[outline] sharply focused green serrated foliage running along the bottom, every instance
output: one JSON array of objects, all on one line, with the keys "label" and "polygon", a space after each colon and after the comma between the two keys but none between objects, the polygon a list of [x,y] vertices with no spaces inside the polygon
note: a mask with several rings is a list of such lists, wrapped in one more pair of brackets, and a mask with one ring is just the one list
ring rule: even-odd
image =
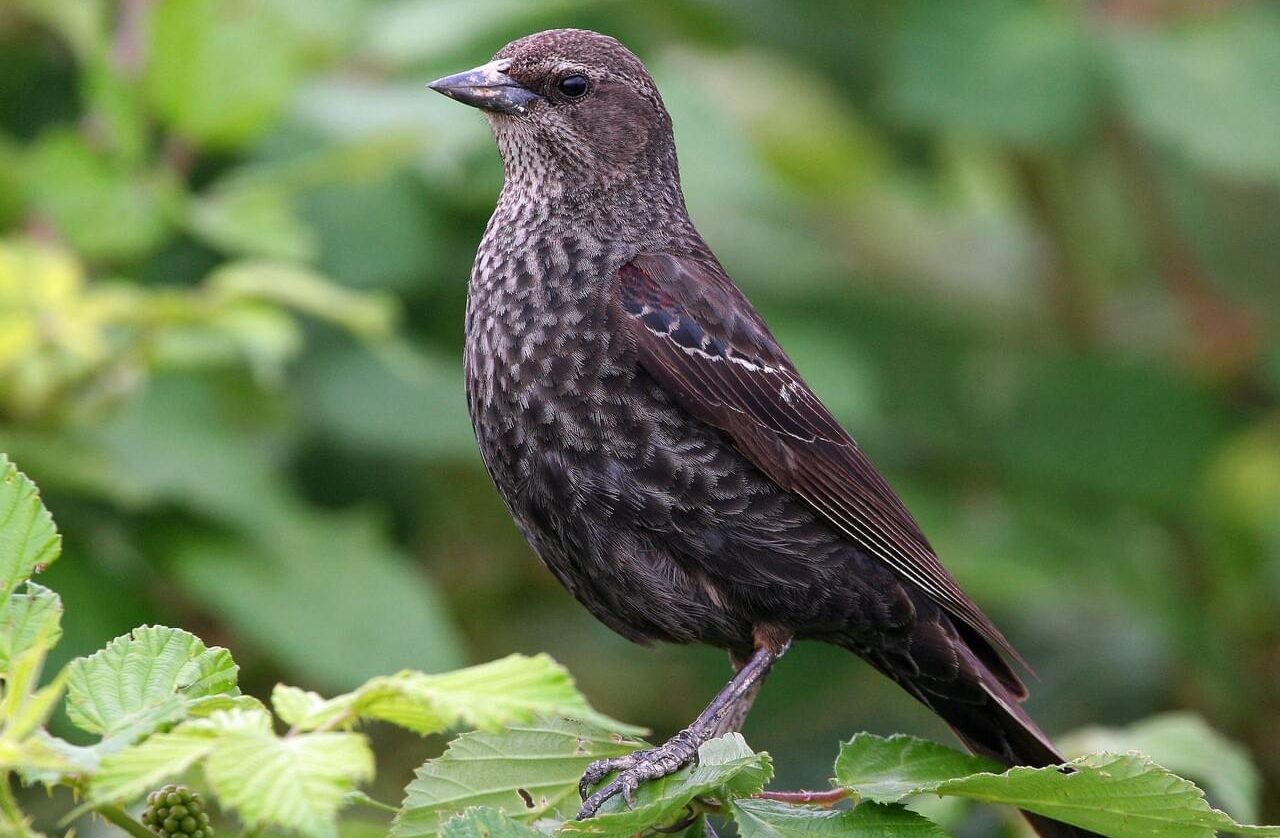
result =
[{"label": "sharply focused green serrated foliage running along the bottom", "polygon": [[[268,706],[241,693],[225,649],[178,628],[143,626],[41,684],[63,604],[31,577],[59,551],[35,485],[0,454],[5,833],[38,834],[18,809],[14,778],[72,787],[84,803],[67,821],[92,810],[134,835],[147,832],[125,807],[188,778],[207,789],[224,820],[234,816],[251,832],[330,835],[344,807],[367,800],[358,787],[372,779],[375,761],[360,728],[383,722],[420,736],[474,728],[417,770],[389,824],[392,838],[622,838],[672,829],[692,835],[710,812],[731,818],[744,838],[945,835],[909,807],[929,795],[1015,806],[1114,838],[1280,837],[1280,826],[1236,823],[1196,784],[1135,751],[1089,754],[1070,770],[1001,771],[934,742],[870,734],[841,746],[831,791],[799,798],[767,792],[772,759],[732,733],[705,743],[695,765],[641,787],[634,809],[612,800],[595,818],[568,820],[586,765],[641,747],[635,737],[644,731],[594,710],[550,658],[512,655],[444,674],[406,670],[333,697],[278,684]],[[68,716],[97,737],[93,745],[74,746],[45,729],[64,693]],[[1185,718],[1164,729],[1211,756],[1229,747]],[[1124,734],[1111,739],[1123,743]],[[1239,756],[1228,756],[1239,775]],[[1245,765],[1245,778],[1251,770]],[[1216,783],[1217,796],[1233,800],[1240,815],[1249,793]],[[828,807],[805,805],[812,801]]]}]

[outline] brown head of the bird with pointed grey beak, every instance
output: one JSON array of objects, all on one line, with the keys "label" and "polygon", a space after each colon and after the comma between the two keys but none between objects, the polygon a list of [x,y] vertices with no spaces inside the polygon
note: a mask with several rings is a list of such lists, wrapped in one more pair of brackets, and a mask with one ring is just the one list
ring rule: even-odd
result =
[{"label": "brown head of the bird with pointed grey beak", "polygon": [[550,29],[430,87],[479,107],[508,183],[573,197],[676,183],[671,119],[649,72],[614,38]]}]

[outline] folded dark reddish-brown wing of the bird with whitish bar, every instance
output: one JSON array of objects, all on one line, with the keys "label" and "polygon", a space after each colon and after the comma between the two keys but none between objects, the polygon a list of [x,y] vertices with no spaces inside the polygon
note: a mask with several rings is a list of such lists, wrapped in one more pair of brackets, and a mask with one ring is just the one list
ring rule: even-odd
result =
[{"label": "folded dark reddish-brown wing of the bird with whitish bar", "polygon": [[649,253],[622,266],[618,301],[640,365],[758,468],[1021,665],[938,562],[884,478],[796,372],[714,261]]}]

